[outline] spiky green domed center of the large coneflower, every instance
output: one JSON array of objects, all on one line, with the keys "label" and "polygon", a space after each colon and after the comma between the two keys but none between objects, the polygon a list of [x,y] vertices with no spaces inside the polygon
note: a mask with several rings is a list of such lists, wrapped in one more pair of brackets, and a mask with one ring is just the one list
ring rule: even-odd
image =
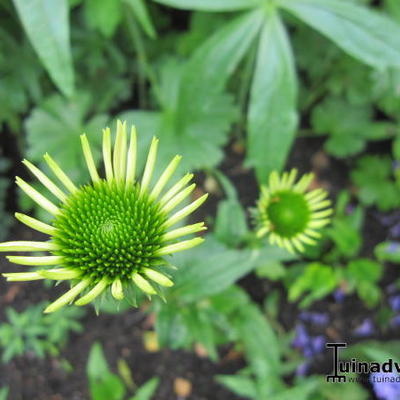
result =
[{"label": "spiky green domed center of the large coneflower", "polygon": [[126,188],[100,181],[79,189],[62,206],[53,237],[64,266],[94,281],[130,279],[161,262],[154,255],[162,245],[166,215],[140,186]]}]

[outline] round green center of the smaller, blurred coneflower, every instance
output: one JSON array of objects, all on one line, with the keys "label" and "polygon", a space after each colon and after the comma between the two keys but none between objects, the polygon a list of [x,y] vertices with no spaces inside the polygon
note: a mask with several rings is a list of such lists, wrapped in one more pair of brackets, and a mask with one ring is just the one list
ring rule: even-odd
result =
[{"label": "round green center of the smaller, blurred coneflower", "polygon": [[291,191],[276,193],[271,198],[266,213],[273,230],[286,238],[304,232],[311,215],[304,195]]}]

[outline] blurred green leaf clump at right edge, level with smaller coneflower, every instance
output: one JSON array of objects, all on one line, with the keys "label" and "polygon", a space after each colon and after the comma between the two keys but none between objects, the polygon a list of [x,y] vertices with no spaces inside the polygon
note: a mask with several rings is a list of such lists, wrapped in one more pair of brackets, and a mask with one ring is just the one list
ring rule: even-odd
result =
[{"label": "blurred green leaf clump at right edge, level with smaller coneflower", "polygon": [[351,178],[363,204],[376,205],[382,211],[400,205],[400,188],[393,181],[392,161],[389,157],[362,157],[352,171]]}]

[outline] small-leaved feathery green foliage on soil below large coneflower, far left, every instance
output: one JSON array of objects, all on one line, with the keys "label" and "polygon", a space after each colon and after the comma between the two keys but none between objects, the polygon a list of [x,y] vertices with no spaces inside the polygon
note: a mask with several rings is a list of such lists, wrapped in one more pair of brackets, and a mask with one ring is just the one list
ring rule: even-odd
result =
[{"label": "small-leaved feathery green foliage on soil below large coneflower, far left", "polygon": [[18,313],[6,308],[8,323],[0,325],[2,361],[33,352],[43,358],[46,354],[56,356],[67,343],[71,332],[82,332],[79,319],[84,311],[68,308],[62,312],[43,314],[43,303],[29,306]]}]

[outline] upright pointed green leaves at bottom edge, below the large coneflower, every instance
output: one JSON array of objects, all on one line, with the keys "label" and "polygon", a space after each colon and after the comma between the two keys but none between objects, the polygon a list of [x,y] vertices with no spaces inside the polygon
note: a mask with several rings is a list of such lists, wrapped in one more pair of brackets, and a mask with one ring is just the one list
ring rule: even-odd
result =
[{"label": "upright pointed green leaves at bottom edge, below the large coneflower", "polygon": [[[119,376],[110,372],[102,346],[96,342],[90,349],[86,366],[89,389],[92,400],[123,400],[127,389]],[[158,378],[152,378],[137,388],[129,400],[151,400],[159,384]]]}]

